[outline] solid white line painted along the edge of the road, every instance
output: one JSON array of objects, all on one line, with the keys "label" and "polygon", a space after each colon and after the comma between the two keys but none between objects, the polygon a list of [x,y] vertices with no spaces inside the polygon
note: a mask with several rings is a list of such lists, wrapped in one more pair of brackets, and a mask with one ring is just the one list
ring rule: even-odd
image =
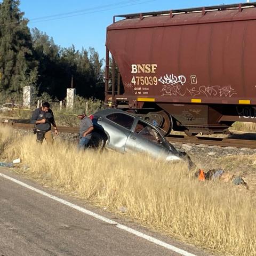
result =
[{"label": "solid white line painted along the edge of the road", "polygon": [[14,178],[12,178],[12,177],[9,177],[9,176],[7,176],[7,175],[5,175],[5,174],[3,174],[3,173],[0,173],[0,177],[3,177],[3,178],[8,179],[8,180],[11,180],[11,181],[13,181],[13,182],[19,184],[19,185],[22,186],[22,187],[31,189],[31,190],[35,191],[36,193],[38,193],[38,194],[47,196],[47,197],[49,197],[49,198],[51,198],[51,199],[53,199],[53,200],[55,200],[55,201],[57,201],[57,202],[59,202],[59,203],[65,204],[65,205],[67,205],[67,206],[69,206],[69,207],[71,207],[71,208],[73,208],[73,209],[76,209],[77,211],[83,212],[83,213],[85,213],[85,214],[87,214],[87,215],[90,215],[90,216],[96,218],[96,219],[99,219],[99,220],[101,220],[101,221],[107,222],[107,223],[109,223],[109,224],[114,224],[114,225],[116,225],[116,227],[119,228],[119,229],[123,229],[123,230],[125,230],[125,231],[127,231],[127,232],[129,232],[129,233],[131,233],[131,234],[133,234],[133,235],[135,235],[135,236],[139,236],[139,237],[141,237],[141,238],[144,238],[144,239],[146,239],[147,241],[150,241],[150,242],[152,242],[152,243],[154,243],[154,244],[163,246],[163,247],[165,247],[166,249],[169,249],[169,250],[171,250],[171,251],[177,252],[177,253],[179,253],[179,254],[181,254],[181,255],[183,255],[183,256],[196,256],[196,255],[193,254],[193,253],[189,253],[189,252],[187,252],[187,251],[184,251],[184,250],[182,250],[182,249],[179,249],[178,247],[175,247],[175,246],[173,246],[173,245],[171,245],[171,244],[167,244],[167,243],[165,243],[165,242],[163,242],[163,241],[161,241],[161,240],[159,240],[159,239],[156,239],[156,238],[154,238],[154,237],[152,237],[152,236],[148,236],[148,235],[146,235],[146,234],[144,234],[144,233],[142,233],[142,232],[140,232],[140,231],[137,231],[137,230],[135,230],[135,229],[129,228],[129,227],[124,226],[124,225],[122,225],[122,224],[120,224],[120,223],[118,223],[118,222],[116,222],[116,221],[113,221],[113,220],[110,220],[110,219],[108,219],[108,218],[105,218],[105,217],[103,217],[103,216],[101,216],[101,215],[99,215],[99,214],[97,214],[97,213],[94,213],[94,212],[91,212],[91,211],[89,211],[89,210],[86,210],[86,209],[83,208],[83,207],[80,207],[80,206],[78,206],[78,205],[69,203],[68,201],[63,200],[63,199],[61,199],[61,198],[59,198],[59,197],[57,197],[57,196],[53,196],[53,195],[48,194],[48,193],[46,193],[46,192],[44,192],[44,191],[42,191],[42,190],[40,190],[40,189],[34,188],[34,187],[32,187],[32,186],[29,186],[29,185],[27,185],[26,183],[21,182],[21,181],[19,181],[19,180],[17,180],[17,179],[14,179]]}]

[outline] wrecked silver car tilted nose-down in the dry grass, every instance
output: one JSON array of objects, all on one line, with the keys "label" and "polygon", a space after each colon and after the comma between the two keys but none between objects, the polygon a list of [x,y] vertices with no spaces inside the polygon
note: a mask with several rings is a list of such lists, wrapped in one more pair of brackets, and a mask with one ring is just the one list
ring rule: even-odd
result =
[{"label": "wrecked silver car tilted nose-down in the dry grass", "polygon": [[121,153],[147,153],[166,161],[192,164],[189,156],[175,149],[160,129],[138,116],[108,108],[98,111],[91,118],[94,126],[91,147],[106,147]]}]

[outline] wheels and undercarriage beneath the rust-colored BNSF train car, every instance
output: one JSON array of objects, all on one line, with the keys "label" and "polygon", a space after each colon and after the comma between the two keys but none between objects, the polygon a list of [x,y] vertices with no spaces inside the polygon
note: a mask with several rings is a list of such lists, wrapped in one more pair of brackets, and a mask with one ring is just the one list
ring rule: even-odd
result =
[{"label": "wheels and undercarriage beneath the rust-colored BNSF train car", "polygon": [[164,130],[165,135],[172,130],[189,136],[229,134],[228,129],[234,122],[253,122],[256,119],[254,106],[138,102],[137,107],[129,108],[128,102],[116,100],[115,107],[146,119]]}]

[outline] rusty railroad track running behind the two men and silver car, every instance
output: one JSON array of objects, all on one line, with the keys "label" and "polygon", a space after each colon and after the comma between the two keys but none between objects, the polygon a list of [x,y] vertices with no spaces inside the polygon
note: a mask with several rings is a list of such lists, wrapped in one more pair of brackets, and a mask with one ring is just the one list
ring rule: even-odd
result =
[{"label": "rusty railroad track running behind the two men and silver car", "polygon": [[[15,123],[15,122],[3,123],[3,124],[12,126],[14,129],[32,130],[34,127],[33,124]],[[58,130],[61,133],[78,133],[79,129],[78,129],[78,127],[58,126]],[[168,137],[166,137],[166,139],[169,142],[256,149],[256,135],[255,135],[255,140],[244,140],[244,139],[233,139],[233,138],[214,138],[214,137],[188,137],[186,135],[169,135]]]}]

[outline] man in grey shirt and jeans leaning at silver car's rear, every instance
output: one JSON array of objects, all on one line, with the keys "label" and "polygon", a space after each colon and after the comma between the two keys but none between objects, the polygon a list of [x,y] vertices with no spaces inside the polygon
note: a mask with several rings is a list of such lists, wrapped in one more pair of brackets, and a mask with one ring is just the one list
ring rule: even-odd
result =
[{"label": "man in grey shirt and jeans leaning at silver car's rear", "polygon": [[93,123],[91,118],[85,115],[83,109],[79,109],[77,117],[81,120],[79,127],[78,149],[85,149],[92,138]]}]

